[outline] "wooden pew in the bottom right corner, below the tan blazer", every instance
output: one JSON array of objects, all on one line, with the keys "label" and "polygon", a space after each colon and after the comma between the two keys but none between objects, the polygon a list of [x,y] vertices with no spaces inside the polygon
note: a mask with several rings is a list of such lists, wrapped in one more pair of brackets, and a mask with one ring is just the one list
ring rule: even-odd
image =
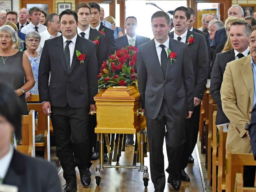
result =
[{"label": "wooden pew in the bottom right corner, below the tan blazer", "polygon": [[[256,166],[256,161],[253,155],[245,153],[230,153],[227,152],[226,157],[226,191],[234,191],[236,174],[243,174],[243,166],[254,165]],[[241,179],[243,181],[243,179]]]}]

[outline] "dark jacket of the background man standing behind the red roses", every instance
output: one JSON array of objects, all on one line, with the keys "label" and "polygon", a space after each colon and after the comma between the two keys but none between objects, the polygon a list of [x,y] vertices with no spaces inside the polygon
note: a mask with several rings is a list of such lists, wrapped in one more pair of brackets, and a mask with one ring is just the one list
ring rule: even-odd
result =
[{"label": "dark jacket of the background man standing behind the red roses", "polygon": [[[135,47],[137,48],[138,46],[140,46],[141,44],[150,41],[149,38],[147,37],[143,37],[140,35],[136,35],[136,39],[135,39]],[[127,36],[124,35],[122,37],[119,37],[117,39],[115,39],[115,42],[117,43],[117,50],[120,50],[123,47],[126,47],[129,45]]]}]

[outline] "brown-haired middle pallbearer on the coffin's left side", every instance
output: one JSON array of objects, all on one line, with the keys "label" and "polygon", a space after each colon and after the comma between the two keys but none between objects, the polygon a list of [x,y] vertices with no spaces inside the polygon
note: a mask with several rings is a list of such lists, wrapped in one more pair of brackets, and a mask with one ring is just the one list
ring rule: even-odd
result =
[{"label": "brown-haired middle pallbearer on the coffin's left side", "polygon": [[[107,55],[107,42],[105,35],[90,27],[91,7],[87,3],[80,3],[76,6],[76,14],[78,15],[77,33],[80,37],[94,41],[96,44],[96,56],[98,60],[98,72]],[[98,37],[98,41],[95,38]]]}]

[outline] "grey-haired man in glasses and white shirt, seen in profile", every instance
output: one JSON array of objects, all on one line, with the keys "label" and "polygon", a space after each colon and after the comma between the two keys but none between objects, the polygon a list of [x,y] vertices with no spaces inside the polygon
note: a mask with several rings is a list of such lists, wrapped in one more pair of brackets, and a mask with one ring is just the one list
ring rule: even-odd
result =
[{"label": "grey-haired man in glasses and white shirt, seen in profile", "polygon": [[51,13],[47,15],[45,19],[47,30],[40,33],[41,41],[37,48],[37,51],[41,52],[45,41],[61,35],[59,27],[59,15],[57,13]]}]

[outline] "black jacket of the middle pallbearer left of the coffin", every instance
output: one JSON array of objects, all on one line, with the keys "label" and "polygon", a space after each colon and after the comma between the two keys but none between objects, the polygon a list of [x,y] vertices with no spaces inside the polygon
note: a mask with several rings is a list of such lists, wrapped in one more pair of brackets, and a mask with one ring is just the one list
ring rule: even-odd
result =
[{"label": "black jacket of the middle pallbearer left of the coffin", "polygon": [[96,45],[96,56],[97,56],[97,60],[98,60],[98,72],[100,72],[100,67],[101,67],[103,61],[108,59],[107,41],[106,41],[106,37],[104,34],[102,34],[99,31],[90,27],[89,40],[93,41],[98,36],[100,36],[100,38],[98,40],[99,44]]}]

